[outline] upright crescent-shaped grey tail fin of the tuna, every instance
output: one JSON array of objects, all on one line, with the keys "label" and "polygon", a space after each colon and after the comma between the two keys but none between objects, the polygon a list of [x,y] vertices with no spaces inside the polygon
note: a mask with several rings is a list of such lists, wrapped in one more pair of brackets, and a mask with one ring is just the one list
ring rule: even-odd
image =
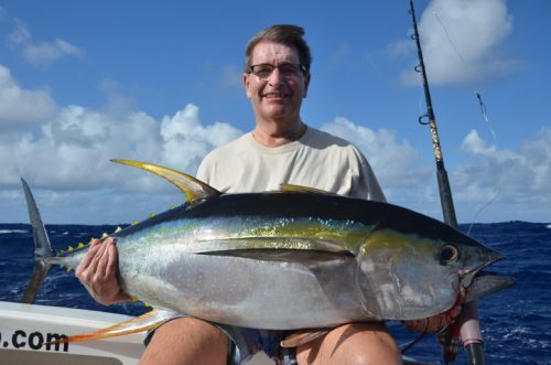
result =
[{"label": "upright crescent-shaped grey tail fin of the tuna", "polygon": [[31,281],[26,287],[25,293],[23,294],[23,303],[32,303],[34,297],[39,291],[39,288],[47,275],[47,271],[52,267],[47,258],[55,256],[55,250],[50,244],[50,238],[47,237],[46,228],[42,223],[40,217],[39,208],[34,202],[33,194],[29,189],[26,182],[21,179],[23,184],[23,192],[25,193],[26,210],[29,211],[29,218],[31,221],[31,226],[33,230],[34,238],[34,268],[31,277]]}]

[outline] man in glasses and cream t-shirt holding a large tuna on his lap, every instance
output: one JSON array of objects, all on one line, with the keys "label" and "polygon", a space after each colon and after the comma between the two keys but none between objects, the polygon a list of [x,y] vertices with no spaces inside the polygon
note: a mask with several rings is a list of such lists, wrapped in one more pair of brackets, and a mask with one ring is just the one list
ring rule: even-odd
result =
[{"label": "man in glasses and cream t-shirt holding a large tuna on his lap", "polygon": [[[255,129],[210,152],[197,178],[229,193],[277,190],[291,183],[383,201],[375,174],[354,146],[301,119],[311,78],[311,54],[303,34],[299,26],[274,25],[248,43],[242,83],[255,112]],[[118,283],[112,239],[93,243],[76,275],[104,304],[129,299]],[[239,364],[259,350],[276,357],[284,335],[176,318],[149,337],[141,364]],[[400,364],[401,356],[383,323],[350,323],[300,345],[296,361],[301,365],[392,365]]]}]

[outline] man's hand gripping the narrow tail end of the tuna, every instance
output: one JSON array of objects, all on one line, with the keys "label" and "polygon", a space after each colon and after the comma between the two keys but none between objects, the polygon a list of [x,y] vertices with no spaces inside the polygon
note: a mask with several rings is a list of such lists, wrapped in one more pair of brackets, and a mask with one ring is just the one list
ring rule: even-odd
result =
[{"label": "man's hand gripping the narrow tail end of the tuna", "polygon": [[90,296],[105,305],[130,300],[130,296],[120,288],[115,244],[112,237],[105,240],[95,239],[75,270],[76,277]]}]

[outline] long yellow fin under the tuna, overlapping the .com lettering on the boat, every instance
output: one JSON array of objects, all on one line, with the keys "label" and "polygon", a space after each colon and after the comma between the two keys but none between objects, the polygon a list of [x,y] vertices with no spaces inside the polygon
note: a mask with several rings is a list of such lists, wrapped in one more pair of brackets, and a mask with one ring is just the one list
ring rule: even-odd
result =
[{"label": "long yellow fin under the tuna, overlapping the .com lettering on the boat", "polygon": [[153,309],[145,314],[133,318],[131,320],[117,323],[115,325],[108,326],[106,329],[98,330],[91,333],[77,334],[66,339],[61,339],[58,341],[51,342],[50,344],[58,344],[65,342],[80,342],[80,341],[97,341],[115,336],[122,336],[126,334],[142,332],[152,330],[166,320],[173,318],[174,311],[164,309]]}]

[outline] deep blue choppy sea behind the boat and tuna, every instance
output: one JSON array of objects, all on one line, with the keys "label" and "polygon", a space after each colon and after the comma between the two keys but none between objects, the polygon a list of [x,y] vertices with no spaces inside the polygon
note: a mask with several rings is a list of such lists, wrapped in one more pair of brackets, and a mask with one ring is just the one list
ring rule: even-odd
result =
[{"label": "deep blue choppy sea behind the boat and tuna", "polygon": [[[56,249],[66,249],[90,237],[112,233],[116,226],[48,225]],[[487,364],[551,364],[551,225],[507,222],[462,225],[463,232],[507,256],[494,271],[514,276],[517,283],[478,301]],[[31,276],[33,238],[26,224],[0,224],[0,300],[20,301]],[[95,303],[74,278],[61,268],[47,276],[36,303],[140,314],[140,303],[102,307]],[[399,343],[417,337],[399,323],[390,329]],[[440,347],[428,335],[408,355],[419,361],[440,361]],[[467,364],[461,350],[455,364]]]}]

